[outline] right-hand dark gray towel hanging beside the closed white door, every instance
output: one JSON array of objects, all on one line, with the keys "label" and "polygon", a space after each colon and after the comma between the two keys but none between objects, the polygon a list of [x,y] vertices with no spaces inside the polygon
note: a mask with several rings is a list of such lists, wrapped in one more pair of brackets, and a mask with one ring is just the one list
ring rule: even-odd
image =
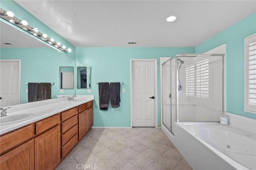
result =
[{"label": "right-hand dark gray towel hanging beside the closed white door", "polygon": [[110,101],[112,107],[120,106],[120,82],[110,83]]}]

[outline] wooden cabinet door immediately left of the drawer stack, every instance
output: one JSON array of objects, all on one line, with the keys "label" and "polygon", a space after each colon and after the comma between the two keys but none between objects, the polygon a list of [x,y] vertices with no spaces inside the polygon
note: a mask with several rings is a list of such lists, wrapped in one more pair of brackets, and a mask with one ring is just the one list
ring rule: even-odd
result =
[{"label": "wooden cabinet door immediately left of the drawer stack", "polygon": [[60,162],[60,125],[35,138],[35,169],[51,170]]}]

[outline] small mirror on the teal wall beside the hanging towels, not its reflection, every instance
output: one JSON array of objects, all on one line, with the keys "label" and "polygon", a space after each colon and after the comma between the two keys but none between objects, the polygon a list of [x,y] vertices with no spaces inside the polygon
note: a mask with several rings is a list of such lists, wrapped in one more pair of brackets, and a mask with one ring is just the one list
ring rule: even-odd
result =
[{"label": "small mirror on the teal wall beside the hanging towels, not its reflection", "polygon": [[78,66],[76,67],[77,81],[76,88],[91,88],[91,67]]}]

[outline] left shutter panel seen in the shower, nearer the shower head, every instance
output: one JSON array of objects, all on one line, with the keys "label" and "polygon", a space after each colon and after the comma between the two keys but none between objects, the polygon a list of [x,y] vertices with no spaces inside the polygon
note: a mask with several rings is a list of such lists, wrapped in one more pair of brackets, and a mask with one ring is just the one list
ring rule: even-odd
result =
[{"label": "left shutter panel seen in the shower, nearer the shower head", "polygon": [[186,66],[186,96],[195,96],[195,64]]}]

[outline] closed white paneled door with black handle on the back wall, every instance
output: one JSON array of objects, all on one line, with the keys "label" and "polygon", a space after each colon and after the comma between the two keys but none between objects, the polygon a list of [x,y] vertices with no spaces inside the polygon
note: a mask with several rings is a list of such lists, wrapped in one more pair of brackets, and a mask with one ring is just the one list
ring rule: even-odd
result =
[{"label": "closed white paneled door with black handle on the back wall", "polygon": [[132,127],[155,127],[156,125],[156,59],[131,61],[131,116]]}]

